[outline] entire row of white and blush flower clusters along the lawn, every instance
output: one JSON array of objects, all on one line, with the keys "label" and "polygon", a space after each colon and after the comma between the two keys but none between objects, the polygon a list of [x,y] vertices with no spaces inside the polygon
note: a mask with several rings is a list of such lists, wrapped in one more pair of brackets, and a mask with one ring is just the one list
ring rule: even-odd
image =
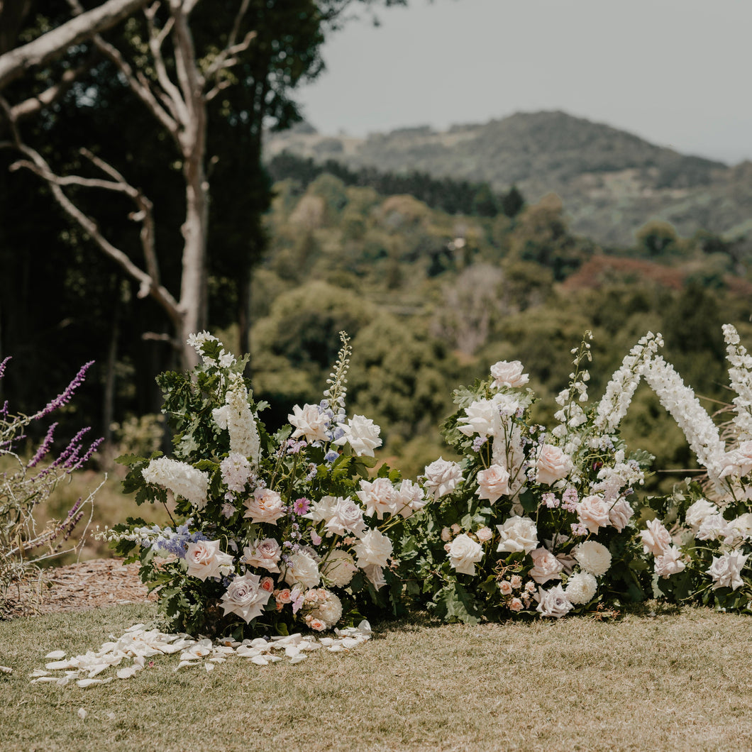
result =
[{"label": "entire row of white and blush flower clusters along the lawn", "polygon": [[[380,429],[347,416],[350,347],[323,399],[267,432],[245,362],[206,332],[193,373],[159,377],[174,456],[125,456],[139,503],[174,501],[174,524],[107,532],[140,562],[171,632],[235,641],[354,628],[427,608],[449,622],[616,614],[663,594],[750,611],[752,357],[732,327],[729,446],[648,333],[590,402],[590,335],[572,350],[550,426],[520,362],[455,392],[444,429],[459,461],[415,480],[379,464]],[[638,508],[652,457],[619,434],[641,379],[687,432],[705,484]],[[638,520],[642,520],[638,525]],[[647,520],[647,522],[646,522]]]}]

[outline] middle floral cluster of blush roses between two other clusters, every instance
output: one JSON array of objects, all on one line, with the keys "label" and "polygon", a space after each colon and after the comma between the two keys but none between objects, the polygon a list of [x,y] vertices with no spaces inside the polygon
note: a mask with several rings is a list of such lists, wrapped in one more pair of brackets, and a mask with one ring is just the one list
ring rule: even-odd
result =
[{"label": "middle floral cluster of blush roses between two other clusters", "polygon": [[551,428],[531,419],[535,395],[518,361],[456,390],[444,436],[462,460],[426,467],[420,481],[436,503],[402,550],[408,589],[437,617],[559,618],[644,599],[632,499],[652,457],[629,453],[618,428],[662,341],[642,338],[588,407],[589,340],[572,350]]}]

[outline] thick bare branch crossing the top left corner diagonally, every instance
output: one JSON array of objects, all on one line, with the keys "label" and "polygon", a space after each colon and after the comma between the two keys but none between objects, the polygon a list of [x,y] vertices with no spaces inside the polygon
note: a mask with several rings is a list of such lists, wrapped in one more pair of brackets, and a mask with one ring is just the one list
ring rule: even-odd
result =
[{"label": "thick bare branch crossing the top left corner diagonally", "polygon": [[33,65],[43,65],[62,55],[68,47],[111,29],[147,0],[108,0],[98,8],[72,18],[29,44],[0,55],[0,89],[22,76]]}]

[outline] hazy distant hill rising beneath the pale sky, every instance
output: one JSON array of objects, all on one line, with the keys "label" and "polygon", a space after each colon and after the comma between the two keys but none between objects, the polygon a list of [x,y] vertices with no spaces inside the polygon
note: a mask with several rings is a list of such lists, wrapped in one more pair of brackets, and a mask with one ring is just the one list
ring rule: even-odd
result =
[{"label": "hazy distant hill rising beneath the pale sky", "polygon": [[350,168],[487,182],[499,192],[517,186],[532,202],[557,193],[572,230],[606,246],[632,244],[651,219],[684,236],[699,229],[752,236],[752,162],[729,167],[687,156],[559,111],[368,138],[321,135],[304,125],[268,136],[267,158],[285,150]]}]

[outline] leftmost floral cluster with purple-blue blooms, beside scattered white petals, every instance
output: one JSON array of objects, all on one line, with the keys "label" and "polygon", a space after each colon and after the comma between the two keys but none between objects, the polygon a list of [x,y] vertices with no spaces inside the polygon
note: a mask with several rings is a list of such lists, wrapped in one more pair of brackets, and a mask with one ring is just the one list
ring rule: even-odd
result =
[{"label": "leftmost floral cluster with purple-blue blooms, beside scattered white petals", "polygon": [[[174,456],[126,456],[136,501],[174,499],[171,526],[128,520],[108,532],[138,560],[171,630],[232,638],[325,632],[359,623],[399,582],[393,540],[425,503],[421,488],[381,465],[380,429],[347,417],[350,344],[318,405],[295,405],[269,435],[244,360],[202,332],[193,374],[162,374]],[[389,590],[390,588],[387,588]]]}]

